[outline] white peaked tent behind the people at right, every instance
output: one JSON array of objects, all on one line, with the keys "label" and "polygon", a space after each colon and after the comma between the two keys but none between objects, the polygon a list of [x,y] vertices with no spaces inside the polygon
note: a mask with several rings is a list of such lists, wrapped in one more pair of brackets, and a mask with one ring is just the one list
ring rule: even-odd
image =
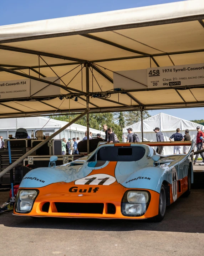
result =
[{"label": "white peaked tent behind the people at right", "polygon": [[[155,127],[159,127],[160,131],[164,135],[164,141],[169,141],[169,137],[176,132],[177,128],[180,128],[180,133],[185,135],[185,129],[189,130],[190,138],[196,139],[197,130],[196,127],[200,126],[201,130],[204,129],[203,125],[196,124],[191,121],[187,121],[184,119],[180,119],[175,116],[170,116],[164,113],[159,113],[157,115],[151,116],[145,120],[143,120],[143,135],[144,141],[157,141],[156,134],[153,131]],[[141,121],[137,122],[136,124],[129,125],[128,127],[123,128],[123,135],[127,137],[127,129],[131,127],[133,132],[139,136],[140,141],[142,141],[142,127]],[[126,142],[126,139],[123,139]],[[156,147],[155,147],[156,149]],[[173,147],[172,146],[165,146],[163,149],[164,155],[173,154]]]}]

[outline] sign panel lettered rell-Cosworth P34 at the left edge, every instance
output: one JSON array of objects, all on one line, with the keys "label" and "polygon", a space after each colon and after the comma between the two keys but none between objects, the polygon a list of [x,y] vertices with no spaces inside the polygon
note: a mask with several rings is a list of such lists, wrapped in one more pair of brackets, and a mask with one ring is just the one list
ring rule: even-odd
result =
[{"label": "sign panel lettered rell-Cosworth P34 at the left edge", "polygon": [[22,98],[30,96],[30,79],[0,82],[0,98]]}]

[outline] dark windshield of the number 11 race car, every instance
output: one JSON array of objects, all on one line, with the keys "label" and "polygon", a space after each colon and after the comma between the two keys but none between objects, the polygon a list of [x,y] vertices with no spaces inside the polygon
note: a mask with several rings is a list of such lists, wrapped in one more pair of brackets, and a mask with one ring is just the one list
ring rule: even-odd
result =
[{"label": "dark windshield of the number 11 race car", "polygon": [[141,146],[105,146],[98,150],[88,161],[138,161],[143,158],[145,148]]}]

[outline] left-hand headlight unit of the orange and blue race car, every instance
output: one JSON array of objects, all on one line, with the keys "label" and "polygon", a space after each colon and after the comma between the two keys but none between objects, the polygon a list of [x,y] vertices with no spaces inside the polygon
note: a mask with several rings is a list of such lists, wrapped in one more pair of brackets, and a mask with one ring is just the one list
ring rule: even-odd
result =
[{"label": "left-hand headlight unit of the orange and blue race car", "polygon": [[32,210],[33,203],[39,193],[39,190],[19,189],[16,196],[15,211],[17,213],[29,213]]}]

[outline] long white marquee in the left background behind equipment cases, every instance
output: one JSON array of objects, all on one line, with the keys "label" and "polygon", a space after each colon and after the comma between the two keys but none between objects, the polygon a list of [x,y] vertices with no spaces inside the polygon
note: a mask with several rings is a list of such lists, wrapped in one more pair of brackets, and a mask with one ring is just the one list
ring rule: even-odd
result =
[{"label": "long white marquee in the left background behind equipment cases", "polygon": [[[27,117],[27,118],[10,118],[10,119],[1,119],[0,121],[0,136],[3,136],[4,139],[7,139],[9,134],[15,136],[15,132],[18,128],[25,128],[31,136],[31,131],[43,130],[45,135],[51,135],[61,127],[65,126],[67,122],[59,121],[55,119],[50,119],[46,117]],[[85,131],[87,130],[86,126],[73,124],[70,127],[67,127],[64,131],[58,134],[54,139],[62,139],[65,137],[67,140],[71,137],[79,137],[80,140],[85,136]],[[93,133],[93,137],[96,137],[97,133],[100,133],[102,136],[105,136],[105,132],[99,131],[96,129],[90,128],[90,131]]]}]

